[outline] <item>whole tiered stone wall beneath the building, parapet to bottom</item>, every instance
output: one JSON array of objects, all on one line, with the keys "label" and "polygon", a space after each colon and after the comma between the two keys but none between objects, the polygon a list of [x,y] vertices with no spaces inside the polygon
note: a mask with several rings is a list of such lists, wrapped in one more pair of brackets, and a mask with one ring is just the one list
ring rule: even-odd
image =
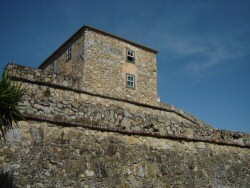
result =
[{"label": "whole tiered stone wall beneath the building, parapet to bottom", "polygon": [[9,65],[28,121],[1,143],[20,187],[249,187],[250,135],[171,105],[86,91],[77,80]]}]

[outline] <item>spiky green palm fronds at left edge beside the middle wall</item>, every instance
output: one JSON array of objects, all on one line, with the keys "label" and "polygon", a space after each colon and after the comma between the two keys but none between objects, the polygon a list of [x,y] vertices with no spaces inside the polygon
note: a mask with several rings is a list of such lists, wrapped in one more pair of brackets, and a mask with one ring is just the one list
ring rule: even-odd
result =
[{"label": "spiky green palm fronds at left edge beside the middle wall", "polygon": [[0,81],[0,139],[5,138],[6,132],[13,128],[13,124],[24,119],[19,112],[19,101],[23,94],[21,84],[14,83],[4,72]]}]

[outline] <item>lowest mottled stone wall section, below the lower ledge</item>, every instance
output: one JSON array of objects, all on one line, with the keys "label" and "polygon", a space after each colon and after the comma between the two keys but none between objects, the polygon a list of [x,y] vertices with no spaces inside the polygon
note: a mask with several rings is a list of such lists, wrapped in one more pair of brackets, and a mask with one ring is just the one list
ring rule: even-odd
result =
[{"label": "lowest mottled stone wall section, below the lower ledge", "polygon": [[249,149],[27,121],[1,143],[19,187],[249,187]]}]

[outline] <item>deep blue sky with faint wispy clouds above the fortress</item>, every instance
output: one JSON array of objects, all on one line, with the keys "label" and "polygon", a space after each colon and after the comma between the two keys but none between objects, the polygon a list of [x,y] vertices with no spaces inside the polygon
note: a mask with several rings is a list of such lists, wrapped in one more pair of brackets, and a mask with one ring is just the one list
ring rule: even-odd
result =
[{"label": "deep blue sky with faint wispy clouds above the fortress", "polygon": [[250,133],[249,0],[0,0],[0,74],[38,67],[84,24],[158,50],[161,101]]}]

